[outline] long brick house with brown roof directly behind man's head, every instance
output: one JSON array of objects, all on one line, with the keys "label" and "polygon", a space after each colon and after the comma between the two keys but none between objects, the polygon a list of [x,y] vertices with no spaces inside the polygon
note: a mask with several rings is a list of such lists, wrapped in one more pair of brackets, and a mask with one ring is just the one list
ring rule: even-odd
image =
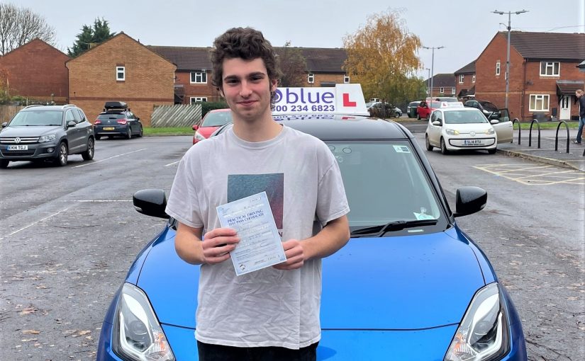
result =
[{"label": "long brick house with brown roof directly behind man's head", "polygon": [[[167,47],[149,45],[148,48],[177,65],[174,84],[174,101],[189,104],[198,101],[220,101],[216,88],[211,85],[211,47]],[[274,47],[277,54],[283,47]],[[342,69],[347,59],[345,49],[323,47],[295,47],[306,62],[303,86],[335,86],[349,83],[350,77]]]}]

